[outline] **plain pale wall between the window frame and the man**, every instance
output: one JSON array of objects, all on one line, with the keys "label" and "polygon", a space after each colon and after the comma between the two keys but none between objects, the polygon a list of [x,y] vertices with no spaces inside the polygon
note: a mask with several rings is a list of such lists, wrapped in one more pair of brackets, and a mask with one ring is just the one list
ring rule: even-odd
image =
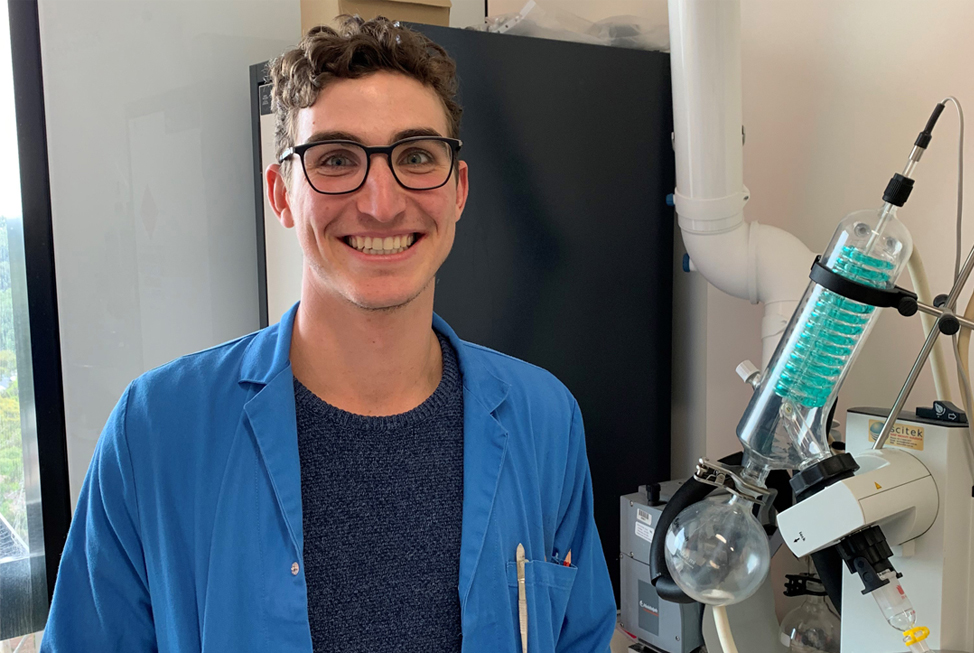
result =
[{"label": "plain pale wall between the window frame and the man", "polygon": [[298,0],[40,0],[72,502],[125,386],[258,327],[248,67]]}]

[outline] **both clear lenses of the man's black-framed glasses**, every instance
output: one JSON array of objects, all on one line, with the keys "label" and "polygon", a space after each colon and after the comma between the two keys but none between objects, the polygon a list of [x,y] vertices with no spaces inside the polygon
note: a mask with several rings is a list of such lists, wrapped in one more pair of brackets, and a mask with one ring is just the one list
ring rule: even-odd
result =
[{"label": "both clear lenses of the man's black-framed glasses", "polygon": [[[453,170],[453,150],[437,140],[398,144],[390,155],[392,171],[410,190],[427,190],[446,183]],[[322,193],[347,193],[362,185],[369,162],[365,150],[352,143],[322,143],[304,153],[308,181]]]}]

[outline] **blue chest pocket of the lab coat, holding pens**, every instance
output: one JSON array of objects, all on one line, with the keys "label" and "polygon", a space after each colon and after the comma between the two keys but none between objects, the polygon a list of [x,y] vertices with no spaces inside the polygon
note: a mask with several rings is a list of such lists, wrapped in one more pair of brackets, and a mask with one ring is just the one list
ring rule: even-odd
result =
[{"label": "blue chest pocket of the lab coat, holding pens", "polygon": [[[529,653],[554,653],[577,572],[575,567],[565,567],[553,562],[524,563],[524,589],[528,599]],[[507,563],[507,584],[513,591],[514,631],[519,633],[516,562]],[[518,644],[517,650],[520,651],[520,648]]]}]

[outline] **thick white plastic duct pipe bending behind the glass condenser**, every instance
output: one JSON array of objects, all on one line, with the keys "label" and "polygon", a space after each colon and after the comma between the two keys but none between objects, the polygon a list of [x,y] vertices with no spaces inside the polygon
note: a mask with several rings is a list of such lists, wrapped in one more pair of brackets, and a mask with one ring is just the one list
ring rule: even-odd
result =
[{"label": "thick white plastic duct pipe bending behind the glass condenser", "polygon": [[694,269],[764,304],[767,366],[815,255],[790,233],[744,221],[739,0],[669,0],[676,212]]}]

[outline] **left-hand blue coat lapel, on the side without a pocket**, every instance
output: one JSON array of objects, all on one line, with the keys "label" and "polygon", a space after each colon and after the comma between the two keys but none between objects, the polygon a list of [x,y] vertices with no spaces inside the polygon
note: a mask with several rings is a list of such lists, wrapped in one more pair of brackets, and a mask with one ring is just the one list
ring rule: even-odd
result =
[{"label": "left-hand blue coat lapel, on the side without a pocket", "polygon": [[244,405],[245,419],[270,477],[295,553],[304,555],[301,509],[301,459],[291,374],[291,332],[295,304],[281,321],[257,334],[241,365],[241,384],[256,394]]}]

